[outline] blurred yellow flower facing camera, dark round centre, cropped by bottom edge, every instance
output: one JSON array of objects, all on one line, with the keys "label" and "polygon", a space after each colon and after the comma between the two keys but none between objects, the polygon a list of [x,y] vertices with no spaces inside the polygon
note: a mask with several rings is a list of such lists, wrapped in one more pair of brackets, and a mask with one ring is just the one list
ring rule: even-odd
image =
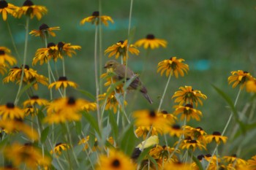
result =
[{"label": "blurred yellow flower facing camera, dark round centre, cropped by bottom edge", "polygon": [[127,155],[118,150],[110,150],[109,155],[99,155],[96,170],[135,170],[135,165]]}]

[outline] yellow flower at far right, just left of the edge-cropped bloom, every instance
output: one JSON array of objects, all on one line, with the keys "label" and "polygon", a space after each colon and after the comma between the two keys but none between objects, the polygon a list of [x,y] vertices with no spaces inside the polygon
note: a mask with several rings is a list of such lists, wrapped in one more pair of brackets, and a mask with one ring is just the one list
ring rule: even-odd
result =
[{"label": "yellow flower at far right, just left of the edge-cropped bloom", "polygon": [[243,70],[231,72],[231,76],[227,78],[228,84],[233,83],[232,88],[236,88],[240,85],[240,88],[244,88],[245,82],[251,79],[251,74],[249,72],[244,72]]}]

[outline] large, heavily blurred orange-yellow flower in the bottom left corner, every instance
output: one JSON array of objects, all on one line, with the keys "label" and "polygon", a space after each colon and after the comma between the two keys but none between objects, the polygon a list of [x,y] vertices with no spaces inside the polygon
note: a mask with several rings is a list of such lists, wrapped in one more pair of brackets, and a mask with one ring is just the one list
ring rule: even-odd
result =
[{"label": "large, heavily blurred orange-yellow flower in the bottom left corner", "polygon": [[31,144],[14,143],[4,147],[4,157],[16,167],[25,164],[29,169],[37,169],[38,166],[49,166],[50,158]]}]

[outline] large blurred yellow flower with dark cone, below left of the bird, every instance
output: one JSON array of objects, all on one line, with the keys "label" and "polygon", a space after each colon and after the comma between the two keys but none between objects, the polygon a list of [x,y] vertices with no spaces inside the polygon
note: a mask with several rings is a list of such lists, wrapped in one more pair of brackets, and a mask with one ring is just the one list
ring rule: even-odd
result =
[{"label": "large blurred yellow flower with dark cone, below left of the bird", "polygon": [[81,118],[80,112],[87,101],[73,97],[58,98],[47,104],[47,116],[45,123],[65,123],[67,121],[78,121]]}]

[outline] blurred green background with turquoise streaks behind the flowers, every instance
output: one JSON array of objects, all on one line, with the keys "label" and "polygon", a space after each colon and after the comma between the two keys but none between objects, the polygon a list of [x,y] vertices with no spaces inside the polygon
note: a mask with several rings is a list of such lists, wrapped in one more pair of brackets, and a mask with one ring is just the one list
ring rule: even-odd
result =
[{"label": "blurred green background with turquoise streaks behind the flowers", "polygon": [[[22,1],[8,1],[20,6]],[[30,20],[30,30],[38,29],[42,23],[48,26],[60,26],[56,37],[50,37],[48,42],[70,42],[80,45],[73,58],[67,58],[67,77],[78,83],[79,88],[95,94],[94,82],[94,26],[86,23],[80,26],[80,20],[99,10],[99,1],[34,1],[34,4],[44,5],[48,8],[48,15],[42,20]],[[127,39],[129,23],[130,1],[109,0],[102,1],[102,15],[110,15],[115,21],[109,27],[102,27],[102,49],[105,50],[114,43]],[[180,86],[192,85],[196,90],[208,96],[203,101],[201,122],[189,122],[189,125],[201,126],[209,134],[212,131],[222,131],[230,112],[225,101],[212,88],[211,84],[221,88],[235,101],[238,88],[233,89],[227,85],[227,77],[233,70],[242,69],[255,75],[256,52],[256,20],[255,1],[238,0],[158,0],[134,1],[132,9],[132,42],[144,38],[147,34],[154,34],[159,39],[167,40],[167,48],[150,50],[146,58],[146,50],[140,48],[140,55],[130,55],[129,67],[142,74],[141,80],[153,98],[154,104],[150,106],[138,94],[133,100],[134,93],[129,93],[127,110],[157,109],[159,96],[162,95],[167,77],[157,74],[157,63],[172,56],[184,58],[189,64],[189,74],[176,79],[173,77],[167,89],[162,109],[173,112],[171,96]],[[12,36],[18,47],[18,53],[23,56],[24,24],[25,18],[16,19],[8,16]],[[9,47],[12,55],[15,50],[10,39],[7,22],[0,20],[0,45]],[[31,60],[37,48],[42,47],[41,39],[29,36],[29,59]],[[103,63],[108,61],[107,55],[102,55]],[[21,60],[20,60],[21,61]],[[21,62],[18,65],[20,66]],[[57,63],[61,71],[61,63]],[[45,74],[46,65],[34,66],[40,74]],[[144,72],[142,73],[142,71]],[[2,76],[1,76],[2,79]],[[46,87],[41,87],[36,93],[48,98]],[[1,104],[15,99],[18,86],[13,84],[1,85]],[[69,95],[83,96],[76,90],[69,90]],[[56,93],[57,97],[57,93]],[[244,107],[249,94],[243,91],[238,101],[238,109]],[[133,102],[135,101],[135,102]]]}]

